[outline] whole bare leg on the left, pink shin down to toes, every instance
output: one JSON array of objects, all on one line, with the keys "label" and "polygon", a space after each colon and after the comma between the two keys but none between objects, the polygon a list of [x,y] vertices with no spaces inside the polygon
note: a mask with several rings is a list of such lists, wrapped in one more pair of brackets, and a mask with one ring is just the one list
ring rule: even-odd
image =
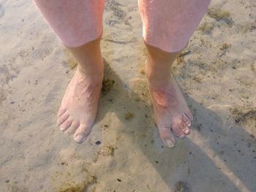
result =
[{"label": "whole bare leg on the left, pink shin down to toes", "polygon": [[78,60],[78,69],[67,87],[58,113],[61,131],[84,142],[97,115],[102,87],[100,53],[105,0],[34,0],[48,24]]}]

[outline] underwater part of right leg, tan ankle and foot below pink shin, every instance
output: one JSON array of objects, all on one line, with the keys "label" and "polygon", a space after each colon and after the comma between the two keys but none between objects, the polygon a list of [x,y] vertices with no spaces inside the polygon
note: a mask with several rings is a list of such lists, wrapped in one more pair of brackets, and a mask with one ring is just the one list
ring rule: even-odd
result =
[{"label": "underwater part of right leg, tan ankle and foot below pink shin", "polygon": [[154,107],[154,120],[162,141],[167,147],[173,147],[176,143],[173,133],[184,139],[189,134],[193,119],[171,74],[171,66],[177,54],[167,53],[150,45],[147,48],[146,75]]}]

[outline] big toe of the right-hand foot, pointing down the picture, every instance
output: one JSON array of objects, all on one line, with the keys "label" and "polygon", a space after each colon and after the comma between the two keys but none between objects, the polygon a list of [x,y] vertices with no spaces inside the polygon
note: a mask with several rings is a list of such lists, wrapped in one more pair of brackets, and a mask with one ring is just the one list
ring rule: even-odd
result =
[{"label": "big toe of the right-hand foot, pointing down the picture", "polygon": [[170,126],[159,126],[159,135],[166,147],[174,147],[176,140],[170,131]]}]

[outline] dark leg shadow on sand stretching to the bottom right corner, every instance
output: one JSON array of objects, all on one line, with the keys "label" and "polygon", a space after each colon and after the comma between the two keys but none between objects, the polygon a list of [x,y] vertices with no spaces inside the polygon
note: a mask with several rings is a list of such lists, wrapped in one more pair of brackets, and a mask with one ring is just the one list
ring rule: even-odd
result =
[{"label": "dark leg shadow on sand stretching to the bottom right corner", "polygon": [[[129,88],[124,88],[105,61],[105,79],[115,83],[111,94],[101,98],[97,122],[114,112],[125,127],[116,127],[116,134],[129,138],[134,145],[131,149],[142,151],[170,190],[255,191],[255,138],[235,123],[228,112],[209,110],[185,94],[195,117],[193,133],[169,149],[162,146],[151,120],[145,78],[135,79]],[[133,89],[140,90],[135,93]],[[109,102],[112,107],[102,107]],[[124,110],[134,117],[127,120]],[[117,142],[121,146],[122,141]]]}]

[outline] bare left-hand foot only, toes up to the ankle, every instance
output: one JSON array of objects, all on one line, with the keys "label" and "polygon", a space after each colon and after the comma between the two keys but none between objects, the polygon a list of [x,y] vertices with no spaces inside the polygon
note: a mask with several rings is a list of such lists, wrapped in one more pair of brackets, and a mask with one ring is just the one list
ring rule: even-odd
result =
[{"label": "bare left-hand foot only, toes up to the ankle", "polygon": [[102,75],[86,75],[77,69],[67,87],[58,112],[61,131],[74,134],[76,142],[84,142],[97,115]]}]

